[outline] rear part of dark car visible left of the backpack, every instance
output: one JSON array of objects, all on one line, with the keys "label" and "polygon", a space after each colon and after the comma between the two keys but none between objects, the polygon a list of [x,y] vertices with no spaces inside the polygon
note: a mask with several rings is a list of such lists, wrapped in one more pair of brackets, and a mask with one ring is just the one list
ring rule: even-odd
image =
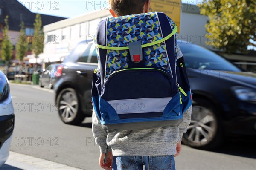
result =
[{"label": "rear part of dark car visible left of the backpack", "polygon": [[58,113],[66,124],[79,124],[92,115],[91,84],[97,68],[92,41],[82,41],[61,63],[60,78],[54,86]]}]

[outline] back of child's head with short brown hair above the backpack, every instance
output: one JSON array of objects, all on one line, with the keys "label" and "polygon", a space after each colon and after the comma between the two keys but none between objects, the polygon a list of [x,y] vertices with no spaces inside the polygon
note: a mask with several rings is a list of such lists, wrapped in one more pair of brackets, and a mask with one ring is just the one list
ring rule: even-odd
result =
[{"label": "back of child's head with short brown hair above the backpack", "polygon": [[148,0],[108,0],[110,8],[117,16],[143,13],[143,7]]}]

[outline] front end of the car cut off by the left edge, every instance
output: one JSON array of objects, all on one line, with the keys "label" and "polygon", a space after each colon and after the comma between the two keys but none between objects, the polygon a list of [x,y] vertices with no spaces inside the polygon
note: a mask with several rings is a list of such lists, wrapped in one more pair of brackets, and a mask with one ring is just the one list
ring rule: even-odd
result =
[{"label": "front end of the car cut off by the left edge", "polygon": [[9,157],[9,141],[14,129],[14,109],[10,94],[9,81],[0,71],[0,166]]}]

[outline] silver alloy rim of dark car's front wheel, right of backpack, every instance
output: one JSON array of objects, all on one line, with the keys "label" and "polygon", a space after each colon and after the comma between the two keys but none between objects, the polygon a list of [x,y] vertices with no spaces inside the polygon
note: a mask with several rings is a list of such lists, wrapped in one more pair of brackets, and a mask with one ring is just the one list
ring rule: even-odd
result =
[{"label": "silver alloy rim of dark car's front wheel, right of backpack", "polygon": [[211,110],[203,106],[193,106],[191,123],[187,128],[187,139],[198,145],[209,143],[216,133],[217,120]]}]

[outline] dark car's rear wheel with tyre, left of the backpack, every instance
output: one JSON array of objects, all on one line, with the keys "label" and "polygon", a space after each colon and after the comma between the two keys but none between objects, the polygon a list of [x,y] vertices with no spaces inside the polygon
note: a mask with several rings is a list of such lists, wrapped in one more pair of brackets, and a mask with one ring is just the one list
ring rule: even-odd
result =
[{"label": "dark car's rear wheel with tyre, left of the backpack", "polygon": [[57,98],[58,113],[65,124],[79,124],[85,115],[81,112],[79,98],[72,88],[63,89]]}]

